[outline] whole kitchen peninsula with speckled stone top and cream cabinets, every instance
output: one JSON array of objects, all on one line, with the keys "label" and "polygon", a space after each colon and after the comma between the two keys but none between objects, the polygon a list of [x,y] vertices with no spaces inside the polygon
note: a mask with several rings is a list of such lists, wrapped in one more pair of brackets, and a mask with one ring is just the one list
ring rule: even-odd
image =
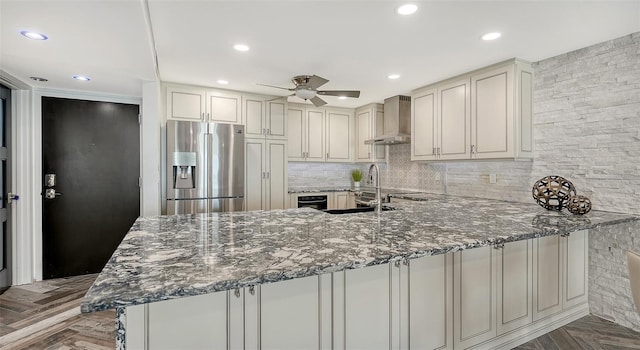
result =
[{"label": "whole kitchen peninsula with speckled stone top and cream cabinets", "polygon": [[588,230],[637,220],[415,199],[139,218],[82,311],[117,309],[121,349],[509,347],[586,315]]}]

